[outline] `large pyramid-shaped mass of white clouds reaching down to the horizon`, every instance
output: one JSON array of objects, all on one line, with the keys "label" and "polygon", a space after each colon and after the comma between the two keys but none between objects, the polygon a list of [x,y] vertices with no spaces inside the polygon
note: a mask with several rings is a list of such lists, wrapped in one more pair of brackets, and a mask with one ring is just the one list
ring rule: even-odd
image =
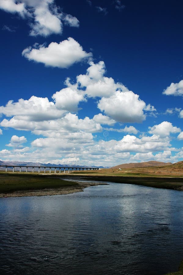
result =
[{"label": "large pyramid-shaped mass of white clouds reaching down to the horizon", "polygon": [[[116,122],[141,122],[145,119],[144,111],[155,111],[153,106],[146,105],[122,83],[105,77],[105,73],[103,61],[97,64],[90,62],[86,74],[78,75],[75,83],[69,78],[66,79],[66,88],[55,92],[53,101],[32,96],[28,100],[11,100],[1,106],[0,113],[6,118],[0,126],[41,135],[32,141],[30,148],[24,148],[23,143],[20,143],[22,137],[12,138],[8,146],[13,149],[11,152],[2,151],[2,156],[13,160],[29,159],[41,162],[60,160],[61,163],[62,159],[77,160],[78,163],[87,165],[93,165],[96,161],[97,165],[102,165],[105,159],[106,166],[112,166],[119,164],[120,159],[124,162],[132,160],[134,152],[145,154],[141,155],[141,159],[148,159],[152,152],[172,150],[169,137],[153,134],[151,137],[137,138],[134,135],[139,131],[132,125],[120,129],[101,126],[112,126]],[[79,118],[75,112],[79,112],[79,103],[87,102],[88,97],[97,97],[96,104],[105,115],[97,113],[93,114],[93,118]],[[122,139],[115,140],[114,136],[110,137],[111,133],[106,132],[97,135],[102,133],[102,130],[122,133]],[[179,128],[170,130],[175,132]],[[123,137],[124,133],[129,134]],[[140,155],[138,157],[140,158]]]}]

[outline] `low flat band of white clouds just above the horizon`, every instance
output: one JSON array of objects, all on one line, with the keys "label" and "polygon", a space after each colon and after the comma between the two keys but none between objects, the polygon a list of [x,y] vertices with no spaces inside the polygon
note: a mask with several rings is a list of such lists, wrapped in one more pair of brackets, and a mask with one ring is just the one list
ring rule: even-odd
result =
[{"label": "low flat band of white clouds just above the horizon", "polygon": [[[46,121],[46,123],[48,122]],[[58,125],[62,125],[62,123],[58,122]],[[67,123],[64,124],[63,129],[65,125]],[[80,137],[82,133],[83,139]],[[174,160],[176,162],[178,157],[182,158],[183,156],[183,150],[178,152],[174,157],[171,156],[170,152],[174,148],[171,148],[168,137],[160,138],[159,135],[153,135],[136,138],[135,136],[126,135],[121,140],[109,139],[109,141],[106,141],[102,139],[97,140],[96,138],[92,140],[92,134],[90,136],[88,134],[78,131],[70,133],[68,138],[64,138],[64,136],[57,138],[56,133],[53,133],[53,136],[48,138],[35,139],[30,149],[25,147],[16,148],[11,151],[2,150],[0,151],[1,158],[7,160],[40,161],[42,163],[63,163],[63,161],[67,163],[67,160],[77,160],[77,163],[80,165],[105,165],[110,167],[119,163],[148,160],[165,162],[173,162]],[[87,137],[91,137],[91,140],[88,140]],[[156,155],[154,154],[155,152],[157,152]]]}]

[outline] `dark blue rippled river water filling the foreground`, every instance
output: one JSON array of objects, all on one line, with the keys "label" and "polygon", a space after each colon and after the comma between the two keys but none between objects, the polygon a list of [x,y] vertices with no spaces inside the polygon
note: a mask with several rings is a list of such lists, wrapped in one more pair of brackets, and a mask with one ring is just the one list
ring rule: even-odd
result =
[{"label": "dark blue rippled river water filling the foreground", "polygon": [[1,274],[160,275],[183,259],[183,192],[110,183],[0,199]]}]

